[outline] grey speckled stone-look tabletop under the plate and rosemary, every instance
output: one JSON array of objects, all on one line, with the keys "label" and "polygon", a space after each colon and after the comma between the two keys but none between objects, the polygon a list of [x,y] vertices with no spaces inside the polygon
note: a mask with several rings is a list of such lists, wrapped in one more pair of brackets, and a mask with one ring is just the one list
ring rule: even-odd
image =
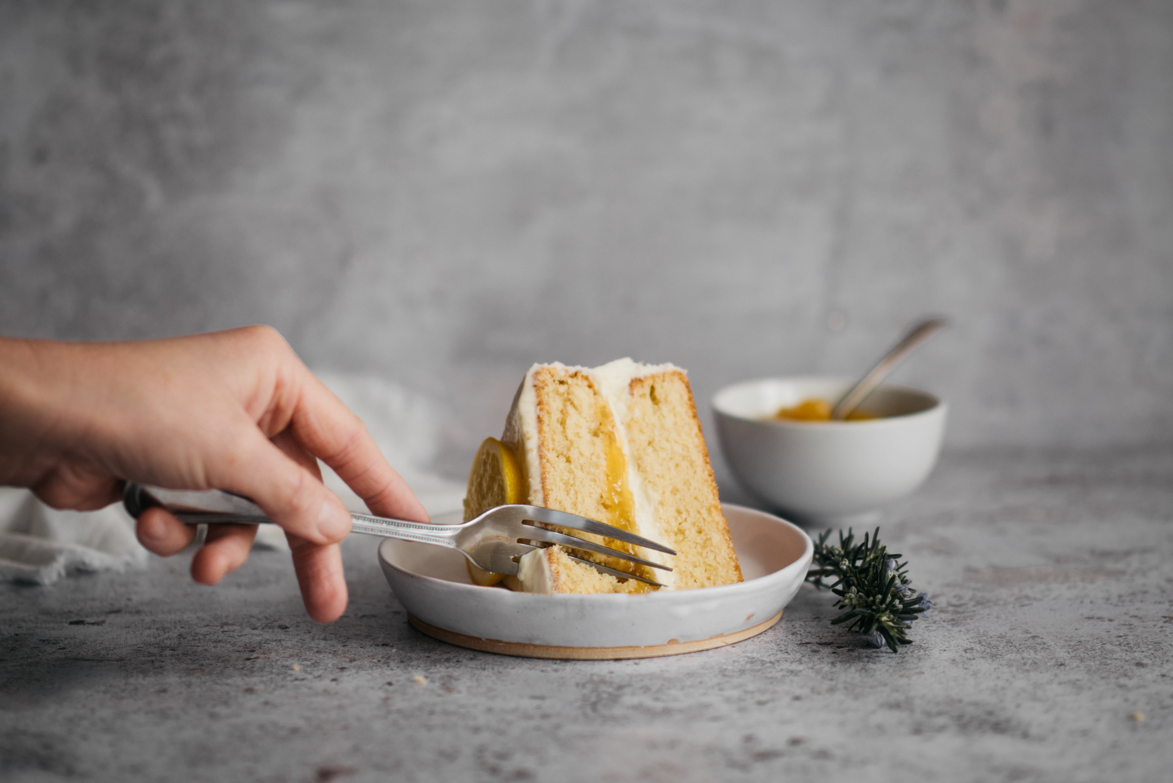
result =
[{"label": "grey speckled stone-look tabletop under the plate and rosemary", "polygon": [[900,655],[832,628],[809,587],[719,650],[475,653],[405,622],[369,540],[347,541],[332,626],[304,616],[276,553],[217,588],[182,555],[0,586],[0,776],[1168,779],[1173,451],[954,454],[882,538],[937,602]]}]

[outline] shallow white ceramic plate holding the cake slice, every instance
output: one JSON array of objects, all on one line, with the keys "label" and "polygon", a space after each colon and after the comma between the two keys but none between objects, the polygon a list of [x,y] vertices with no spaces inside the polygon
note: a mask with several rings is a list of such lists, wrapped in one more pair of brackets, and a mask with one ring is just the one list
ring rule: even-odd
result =
[{"label": "shallow white ceramic plate holding the cake slice", "polygon": [[[556,659],[676,655],[766,630],[806,578],[814,547],[799,527],[723,505],[745,581],[642,595],[534,595],[473,585],[455,549],[387,539],[379,563],[416,628],[474,649]],[[460,521],[438,517],[438,524]]]}]

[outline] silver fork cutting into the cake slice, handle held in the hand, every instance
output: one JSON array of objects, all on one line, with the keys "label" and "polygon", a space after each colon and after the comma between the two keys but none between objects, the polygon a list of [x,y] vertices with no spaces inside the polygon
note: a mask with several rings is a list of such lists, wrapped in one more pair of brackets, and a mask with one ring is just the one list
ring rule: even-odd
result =
[{"label": "silver fork cutting into the cake slice, handle held in the hand", "polygon": [[[164,490],[135,481],[127,481],[122,493],[122,505],[131,517],[154,506],[162,506],[187,525],[271,525],[273,520],[265,515],[260,506],[244,495],[221,490]],[[538,548],[541,544],[561,544],[579,551],[605,554],[619,560],[672,571],[667,566],[636,556],[622,549],[595,544],[584,539],[558,533],[541,525],[554,525],[582,533],[594,533],[616,541],[674,555],[676,552],[662,544],[640,538],[611,525],[597,522],[594,519],[568,514],[564,511],[542,508],[541,506],[497,506],[490,508],[476,519],[460,525],[430,525],[426,522],[408,522],[402,519],[384,519],[369,514],[351,512],[354,533],[381,535],[388,539],[419,541],[435,546],[456,549],[468,560],[484,571],[495,574],[517,575],[517,561],[528,552]],[[569,554],[569,553],[568,553]],[[635,579],[655,587],[664,587],[660,582],[638,574],[610,568],[608,566],[577,558],[591,568],[619,579]]]}]

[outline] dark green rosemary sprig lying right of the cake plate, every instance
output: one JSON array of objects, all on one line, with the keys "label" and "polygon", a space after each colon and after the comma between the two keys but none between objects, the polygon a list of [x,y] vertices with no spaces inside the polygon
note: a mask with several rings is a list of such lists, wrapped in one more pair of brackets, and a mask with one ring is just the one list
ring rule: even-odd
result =
[{"label": "dark green rosemary sprig lying right of the cake plate", "polygon": [[[908,562],[903,555],[890,554],[880,544],[880,528],[855,542],[852,528],[847,535],[839,532],[839,545],[828,544],[830,531],[823,532],[814,545],[814,560],[806,580],[815,587],[827,587],[839,596],[835,608],[843,613],[830,621],[833,626],[849,622],[848,630],[865,634],[874,647],[888,646],[899,653],[901,644],[911,644],[908,629],[913,621],[933,608],[925,593],[910,587]],[[834,578],[835,581],[827,582]]]}]

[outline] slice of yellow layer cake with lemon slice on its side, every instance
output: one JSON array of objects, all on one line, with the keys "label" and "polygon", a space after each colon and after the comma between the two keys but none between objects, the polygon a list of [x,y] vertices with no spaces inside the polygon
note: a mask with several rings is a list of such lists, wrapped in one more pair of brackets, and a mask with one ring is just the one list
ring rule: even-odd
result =
[{"label": "slice of yellow layer cake with lemon slice on its side", "polygon": [[[642,593],[658,589],[601,573],[582,558],[662,582],[667,589],[741,581],[717,484],[684,371],[619,359],[601,367],[535,364],[501,440],[487,440],[469,475],[465,519],[493,505],[528,502],[597,519],[664,544],[676,556],[575,533],[673,571],[552,546],[521,559],[513,589]],[[470,568],[474,581],[500,576]]]}]

